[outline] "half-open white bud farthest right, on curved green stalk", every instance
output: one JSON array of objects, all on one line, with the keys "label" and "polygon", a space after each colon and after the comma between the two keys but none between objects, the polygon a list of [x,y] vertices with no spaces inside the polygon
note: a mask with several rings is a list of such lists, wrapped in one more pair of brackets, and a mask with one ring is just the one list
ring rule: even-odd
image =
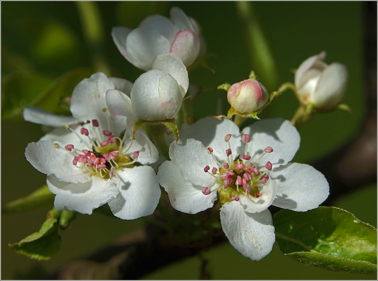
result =
[{"label": "half-open white bud farthest right, on curved green stalk", "polygon": [[345,65],[324,62],[326,53],[309,57],[295,73],[294,82],[301,102],[321,111],[332,110],[344,95],[348,71]]}]

